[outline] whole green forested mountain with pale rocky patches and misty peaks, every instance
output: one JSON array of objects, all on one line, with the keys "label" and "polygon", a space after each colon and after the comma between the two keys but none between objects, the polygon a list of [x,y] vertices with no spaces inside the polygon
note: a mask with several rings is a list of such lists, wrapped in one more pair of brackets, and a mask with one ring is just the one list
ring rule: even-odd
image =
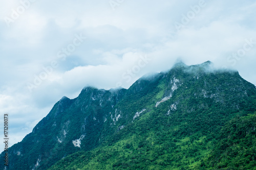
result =
[{"label": "whole green forested mountain with pale rocky patches and misty peaks", "polygon": [[9,169],[256,169],[255,120],[238,71],[179,62],[129,89],[63,97],[9,149]]}]

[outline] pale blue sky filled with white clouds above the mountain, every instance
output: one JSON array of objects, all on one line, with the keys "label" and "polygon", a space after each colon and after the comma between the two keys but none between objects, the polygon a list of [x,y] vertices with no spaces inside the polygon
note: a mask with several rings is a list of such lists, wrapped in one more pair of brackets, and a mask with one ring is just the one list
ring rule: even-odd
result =
[{"label": "pale blue sky filled with white clouds above the mountain", "polygon": [[9,147],[62,96],[74,99],[85,86],[129,88],[177,59],[210,60],[256,84],[255,1],[0,3],[0,126],[8,113]]}]

